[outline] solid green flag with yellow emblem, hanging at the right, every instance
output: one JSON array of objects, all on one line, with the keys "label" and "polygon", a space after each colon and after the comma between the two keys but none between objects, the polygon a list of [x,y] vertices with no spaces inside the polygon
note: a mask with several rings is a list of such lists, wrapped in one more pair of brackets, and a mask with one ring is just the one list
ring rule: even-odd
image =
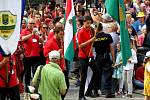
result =
[{"label": "solid green flag with yellow emblem, hanging at the right", "polygon": [[107,12],[120,24],[120,39],[122,62],[126,65],[127,60],[131,57],[130,39],[126,26],[126,15],[124,0],[106,0],[105,6]]}]

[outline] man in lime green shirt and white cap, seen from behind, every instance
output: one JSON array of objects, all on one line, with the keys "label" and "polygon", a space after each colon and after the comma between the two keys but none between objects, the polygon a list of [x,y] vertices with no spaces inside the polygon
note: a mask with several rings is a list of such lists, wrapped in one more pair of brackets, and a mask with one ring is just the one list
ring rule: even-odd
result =
[{"label": "man in lime green shirt and white cap, seen from behind", "polygon": [[[66,93],[65,76],[59,66],[60,64],[59,51],[51,51],[49,53],[50,62],[46,64],[41,71],[41,81],[39,84],[39,93],[42,100],[62,100],[61,95]],[[33,84],[37,82],[40,67],[37,68]]]}]

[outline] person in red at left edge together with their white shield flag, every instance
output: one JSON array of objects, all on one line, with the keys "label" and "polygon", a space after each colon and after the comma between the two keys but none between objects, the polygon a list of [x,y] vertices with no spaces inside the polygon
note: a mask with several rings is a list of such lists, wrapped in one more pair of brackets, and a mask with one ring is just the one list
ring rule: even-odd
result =
[{"label": "person in red at left edge together with their white shield flag", "polygon": [[0,100],[20,100],[14,52],[25,0],[0,1]]}]

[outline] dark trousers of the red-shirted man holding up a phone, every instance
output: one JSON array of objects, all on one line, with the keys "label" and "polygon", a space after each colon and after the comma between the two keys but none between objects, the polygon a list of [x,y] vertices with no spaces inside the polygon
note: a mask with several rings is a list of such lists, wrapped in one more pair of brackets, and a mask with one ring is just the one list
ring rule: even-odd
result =
[{"label": "dark trousers of the red-shirted man holding up a phone", "polygon": [[25,57],[24,58],[24,67],[25,67],[25,86],[26,86],[26,92],[28,91],[28,87],[30,85],[31,80],[31,68],[33,75],[35,74],[35,71],[37,67],[40,65],[40,58],[39,57]]}]

